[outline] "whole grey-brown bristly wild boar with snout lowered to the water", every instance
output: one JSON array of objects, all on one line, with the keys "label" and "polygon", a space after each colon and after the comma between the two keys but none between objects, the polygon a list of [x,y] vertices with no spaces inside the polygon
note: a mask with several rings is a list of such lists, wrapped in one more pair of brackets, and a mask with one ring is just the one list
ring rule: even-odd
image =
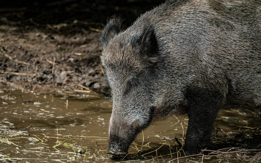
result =
[{"label": "whole grey-brown bristly wild boar with snout lowered to the water", "polygon": [[[220,107],[261,105],[261,1],[167,0],[101,42],[113,110],[108,153],[126,155],[152,121],[187,115],[184,150],[206,147]],[[171,136],[171,135],[170,135]]]}]

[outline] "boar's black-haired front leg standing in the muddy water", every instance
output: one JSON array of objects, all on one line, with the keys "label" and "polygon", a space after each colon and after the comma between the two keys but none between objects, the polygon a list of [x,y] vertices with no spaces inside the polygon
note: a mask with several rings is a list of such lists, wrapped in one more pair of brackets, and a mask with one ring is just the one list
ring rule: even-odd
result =
[{"label": "boar's black-haired front leg standing in the muddy water", "polygon": [[190,89],[186,93],[189,124],[184,150],[186,154],[197,154],[209,142],[213,123],[223,98],[216,91]]}]

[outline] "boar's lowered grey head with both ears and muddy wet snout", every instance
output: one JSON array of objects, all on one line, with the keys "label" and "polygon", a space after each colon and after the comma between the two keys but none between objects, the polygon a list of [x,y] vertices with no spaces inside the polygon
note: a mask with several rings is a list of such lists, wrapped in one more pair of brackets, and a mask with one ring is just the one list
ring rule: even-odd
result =
[{"label": "boar's lowered grey head with both ears and muddy wet snout", "polygon": [[113,98],[108,153],[126,155],[136,135],[153,119],[157,41],[149,23],[121,31],[121,20],[111,19],[101,42],[101,61]]}]

